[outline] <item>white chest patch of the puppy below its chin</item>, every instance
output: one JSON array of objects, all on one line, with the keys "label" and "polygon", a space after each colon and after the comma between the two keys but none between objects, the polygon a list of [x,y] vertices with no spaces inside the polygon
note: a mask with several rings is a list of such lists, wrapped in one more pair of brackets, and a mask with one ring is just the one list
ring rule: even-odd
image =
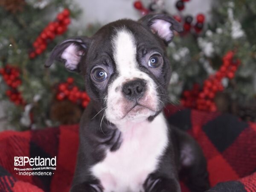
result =
[{"label": "white chest patch of the puppy below its chin", "polygon": [[[125,127],[123,127],[125,126]],[[168,128],[160,113],[152,122],[119,127],[122,144],[91,168],[104,192],[141,192],[147,176],[157,169],[168,145]]]}]

